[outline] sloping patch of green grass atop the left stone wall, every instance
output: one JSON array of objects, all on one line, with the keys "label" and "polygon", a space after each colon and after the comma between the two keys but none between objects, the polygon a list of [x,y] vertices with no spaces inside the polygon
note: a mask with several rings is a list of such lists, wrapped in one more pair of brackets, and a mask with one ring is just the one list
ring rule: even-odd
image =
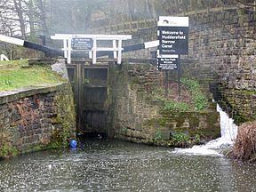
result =
[{"label": "sloping patch of green grass atop the left stone wall", "polygon": [[0,61],[0,91],[58,84],[64,79],[49,66],[28,66],[28,60]]}]

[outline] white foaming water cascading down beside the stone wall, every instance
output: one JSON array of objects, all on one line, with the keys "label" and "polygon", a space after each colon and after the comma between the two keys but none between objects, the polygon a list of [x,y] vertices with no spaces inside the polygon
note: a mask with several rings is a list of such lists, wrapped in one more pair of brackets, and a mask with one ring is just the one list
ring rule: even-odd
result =
[{"label": "white foaming water cascading down beside the stone wall", "polygon": [[194,146],[192,148],[175,148],[172,153],[197,156],[222,156],[220,149],[234,144],[238,127],[234,124],[234,120],[229,118],[228,114],[218,104],[217,111],[220,113],[220,138],[211,140],[205,145]]}]

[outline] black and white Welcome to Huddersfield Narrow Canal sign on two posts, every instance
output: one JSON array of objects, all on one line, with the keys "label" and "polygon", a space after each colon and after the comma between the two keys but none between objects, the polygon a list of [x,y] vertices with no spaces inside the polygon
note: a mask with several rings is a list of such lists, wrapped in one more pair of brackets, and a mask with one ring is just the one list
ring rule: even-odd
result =
[{"label": "black and white Welcome to Huddersfield Narrow Canal sign on two posts", "polygon": [[160,16],[157,26],[157,68],[165,71],[165,95],[168,96],[168,70],[178,69],[180,96],[180,54],[188,54],[188,17]]}]

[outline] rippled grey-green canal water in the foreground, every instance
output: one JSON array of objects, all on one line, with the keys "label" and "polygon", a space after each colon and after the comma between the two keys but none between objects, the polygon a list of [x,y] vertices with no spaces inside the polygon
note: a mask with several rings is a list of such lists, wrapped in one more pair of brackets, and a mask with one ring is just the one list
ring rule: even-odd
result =
[{"label": "rippled grey-green canal water in the foreground", "polygon": [[0,162],[0,191],[256,191],[256,166],[120,141]]}]

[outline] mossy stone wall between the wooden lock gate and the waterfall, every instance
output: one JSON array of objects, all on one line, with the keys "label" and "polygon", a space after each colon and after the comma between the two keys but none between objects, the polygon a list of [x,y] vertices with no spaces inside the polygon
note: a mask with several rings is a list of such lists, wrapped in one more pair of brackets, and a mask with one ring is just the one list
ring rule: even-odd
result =
[{"label": "mossy stone wall between the wooden lock gate and the waterfall", "polygon": [[152,143],[160,134],[166,144],[175,132],[190,138],[198,134],[204,140],[220,136],[219,113],[215,108],[204,112],[161,112],[164,102],[151,94],[164,81],[156,66],[112,66],[109,78],[109,123],[115,138]]}]

